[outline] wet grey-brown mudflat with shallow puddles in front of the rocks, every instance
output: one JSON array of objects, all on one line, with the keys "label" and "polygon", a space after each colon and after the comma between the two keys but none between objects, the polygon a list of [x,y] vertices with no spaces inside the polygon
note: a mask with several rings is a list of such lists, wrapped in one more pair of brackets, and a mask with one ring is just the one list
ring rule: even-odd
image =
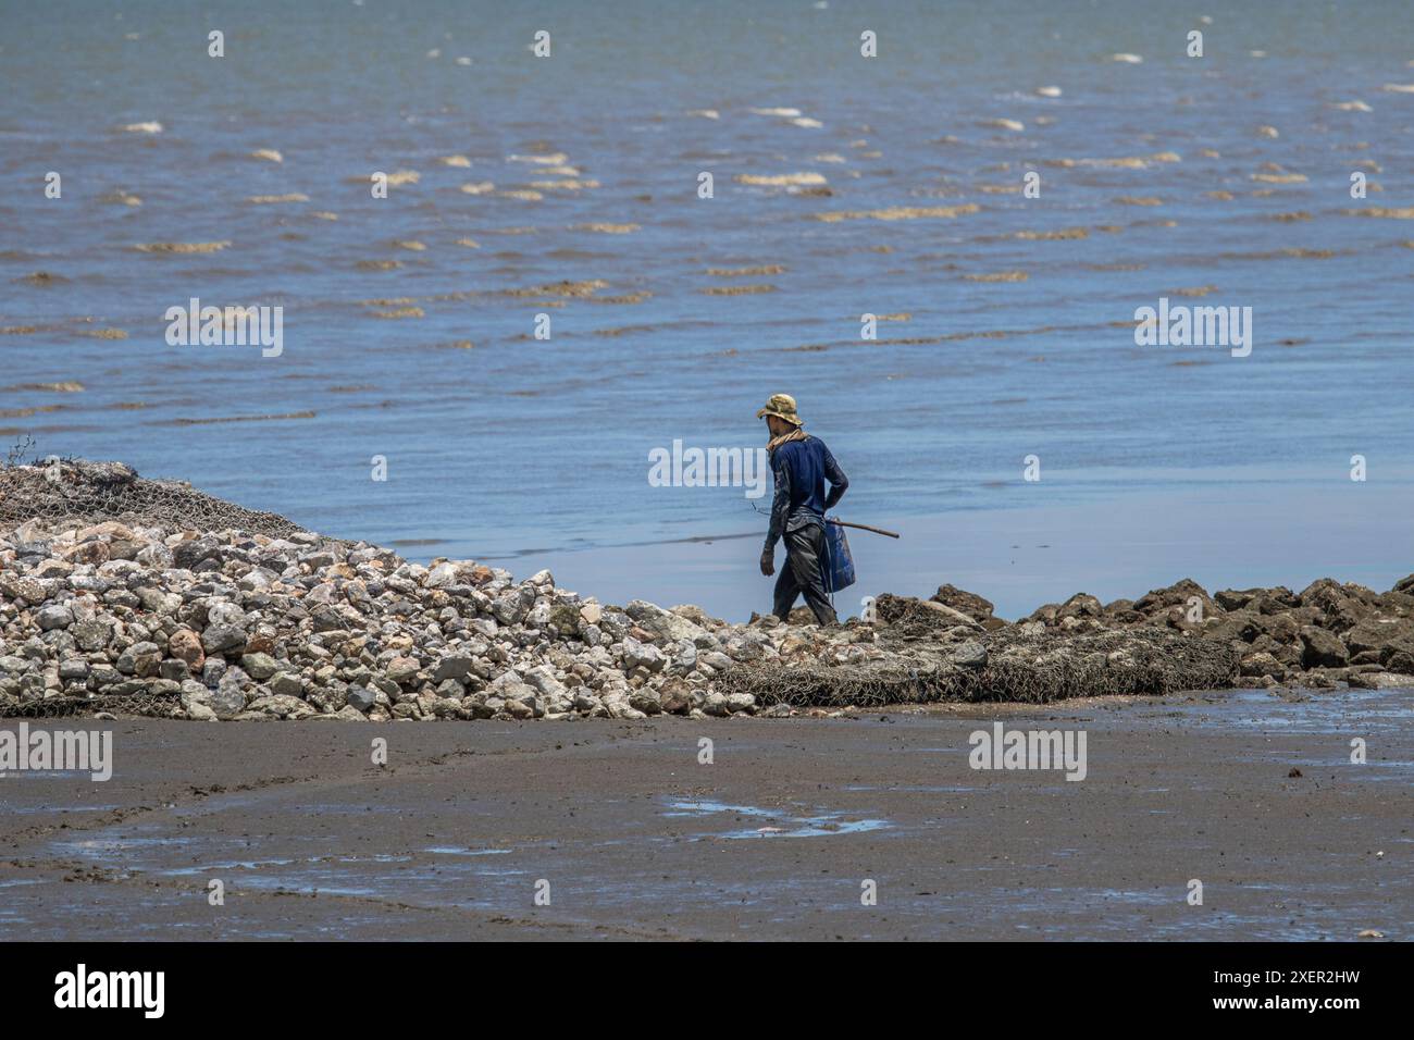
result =
[{"label": "wet grey-brown mudflat with shallow puddles in front of the rocks", "polygon": [[[0,781],[0,940],[1407,940],[1411,705],[44,723],[112,729],[115,774]],[[1083,729],[1086,778],[971,770],[994,719]]]}]

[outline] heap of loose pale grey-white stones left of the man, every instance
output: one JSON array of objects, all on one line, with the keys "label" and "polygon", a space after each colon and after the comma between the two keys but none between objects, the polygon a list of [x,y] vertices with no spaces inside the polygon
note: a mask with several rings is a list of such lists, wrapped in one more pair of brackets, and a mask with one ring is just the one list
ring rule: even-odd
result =
[{"label": "heap of loose pale grey-white stones left of the man", "polygon": [[[363,542],[27,521],[0,532],[0,715],[146,703],[185,719],[641,719],[789,713],[713,678],[812,640],[699,607],[612,607]],[[153,707],[156,706],[156,707]]]}]

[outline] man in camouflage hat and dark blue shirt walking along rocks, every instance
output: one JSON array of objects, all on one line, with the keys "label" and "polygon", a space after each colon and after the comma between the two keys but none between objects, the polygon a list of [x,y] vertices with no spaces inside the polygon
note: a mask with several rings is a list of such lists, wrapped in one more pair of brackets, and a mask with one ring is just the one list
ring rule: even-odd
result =
[{"label": "man in camouflage hat and dark blue shirt walking along rocks", "polygon": [[[766,406],[756,412],[756,419],[762,417],[771,429],[766,450],[776,478],[771,529],[761,553],[762,574],[771,577],[776,573],[776,542],[785,538],[786,543],[786,563],[776,579],[775,614],[785,621],[796,597],[805,593],[814,620],[820,624],[834,623],[839,618],[826,596],[822,572],[824,511],[844,497],[850,480],[824,441],[805,432],[805,423],[796,415],[795,398],[788,393],[772,395]],[[830,483],[829,495],[824,492],[826,481]]]}]

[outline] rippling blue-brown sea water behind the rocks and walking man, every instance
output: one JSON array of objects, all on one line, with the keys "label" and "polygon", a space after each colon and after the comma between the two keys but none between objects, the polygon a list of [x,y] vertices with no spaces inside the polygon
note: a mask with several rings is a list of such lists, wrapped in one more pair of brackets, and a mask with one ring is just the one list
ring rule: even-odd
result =
[{"label": "rippling blue-brown sea water behind the rocks and walking man", "polygon": [[[1005,552],[967,515],[1042,532],[1075,509],[1210,522],[1267,494],[1292,546],[1274,580],[1352,577],[1350,563],[1387,587],[1411,555],[1380,518],[1414,505],[1414,222],[1350,211],[1414,202],[1414,95],[1384,89],[1414,82],[1407,11],[1209,14],[1019,0],[867,17],[803,0],[10,10],[0,171],[31,190],[0,197],[0,430],[419,559],[550,563],[605,599],[632,587],[740,617],[766,600],[764,518],[741,488],[650,487],[648,454],[756,446],[755,409],[788,391],[853,478],[846,518],[905,531],[855,538],[865,574],[895,591]],[[875,59],[858,57],[861,18]],[[219,59],[205,50],[218,24]],[[1182,52],[1195,27],[1202,59]],[[526,50],[537,28],[549,59]],[[1051,85],[1059,96],[1038,95]],[[1352,100],[1370,110],[1338,108]],[[161,132],[124,129],[148,122]],[[42,194],[48,170],[61,200]],[[419,177],[373,200],[375,170]],[[1027,170],[1039,198],[1017,191]],[[1357,170],[1383,191],[1352,200]],[[287,195],[308,201],[249,201]],[[208,246],[136,248],[163,243]],[[560,282],[604,284],[536,289]],[[1161,296],[1253,307],[1251,355],[1137,347],[1134,311]],[[191,297],[283,306],[283,354],[167,345],[164,313]],[[906,320],[861,342],[864,313]],[[82,389],[44,386],[71,381]],[[1366,484],[1349,480],[1357,453]],[[1039,483],[1022,480],[1029,454]],[[715,553],[674,542],[747,533]],[[1126,531],[1072,533],[1077,559],[1053,574],[1066,594]],[[1233,522],[1206,559],[1240,569],[1270,538]],[[605,546],[611,563],[595,562]],[[622,582],[602,593],[611,567]],[[1128,582],[1111,594],[1150,587]],[[1044,599],[1004,593],[1011,613]]]}]

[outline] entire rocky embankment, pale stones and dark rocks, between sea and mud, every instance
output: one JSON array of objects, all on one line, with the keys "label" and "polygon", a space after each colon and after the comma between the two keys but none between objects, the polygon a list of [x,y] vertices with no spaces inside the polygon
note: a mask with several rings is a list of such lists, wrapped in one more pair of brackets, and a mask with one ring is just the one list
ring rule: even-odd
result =
[{"label": "entire rocky embankment, pale stones and dark rocks, between sea and mud", "polygon": [[[645,719],[1299,685],[1414,686],[1414,574],[1138,600],[1007,623],[943,584],[820,630],[604,604],[542,570],[409,563],[117,463],[0,471],[0,715]],[[82,514],[75,516],[74,514]],[[68,514],[68,515],[61,515]]]}]

